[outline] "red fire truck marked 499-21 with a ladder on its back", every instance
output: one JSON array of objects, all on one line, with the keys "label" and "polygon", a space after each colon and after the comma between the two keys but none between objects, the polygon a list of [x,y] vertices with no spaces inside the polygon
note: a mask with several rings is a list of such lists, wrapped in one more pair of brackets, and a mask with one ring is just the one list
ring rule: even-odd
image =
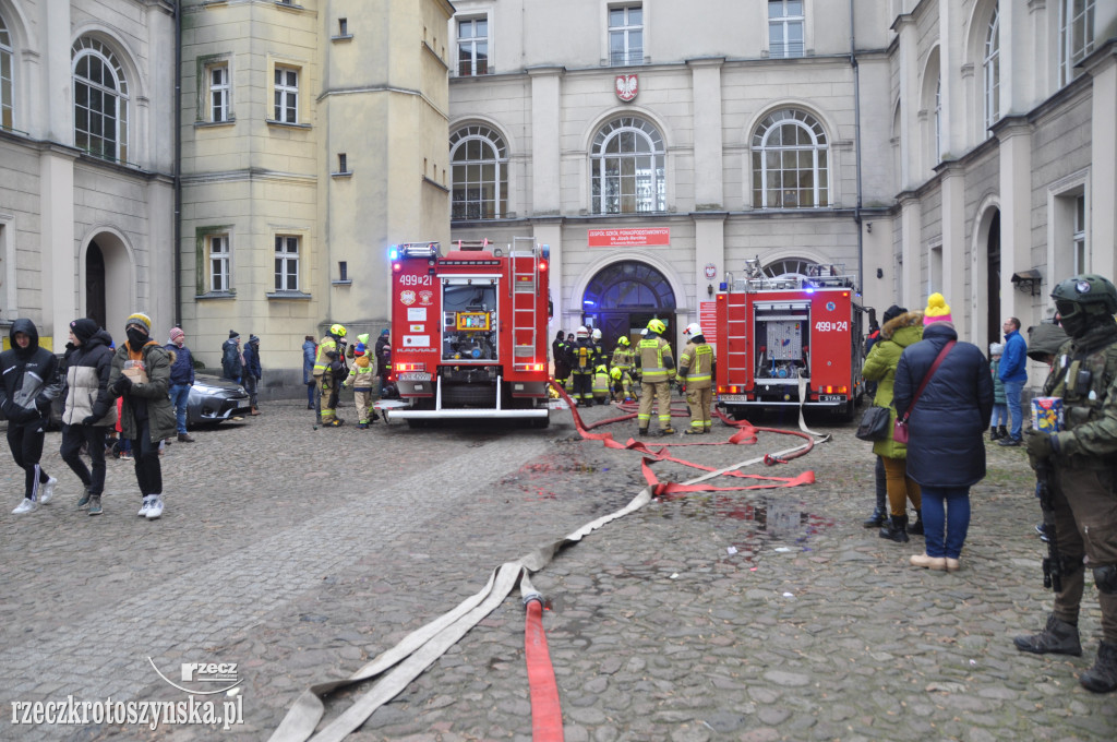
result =
[{"label": "red fire truck marked 499-21 with a ladder on its back", "polygon": [[[512,418],[546,427],[548,253],[531,238],[392,246],[388,419],[419,427],[452,418]],[[379,403],[378,403],[379,406]]]}]

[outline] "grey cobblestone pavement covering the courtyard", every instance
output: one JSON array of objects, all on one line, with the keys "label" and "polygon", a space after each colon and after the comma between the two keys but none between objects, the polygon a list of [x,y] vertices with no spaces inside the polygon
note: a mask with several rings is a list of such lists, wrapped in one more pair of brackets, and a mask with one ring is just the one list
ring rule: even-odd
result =
[{"label": "grey cobblestone pavement covering the courtyard", "polygon": [[[264,412],[168,447],[166,511],[154,522],[136,517],[124,462],[108,463],[103,515],[74,510],[80,486],[57,432],[44,457],[55,501],[12,515],[22,473],[4,453],[0,739],[266,739],[305,687],[349,676],[502,562],[622,507],[643,484],[638,455],[581,440],[569,412],[552,412],[547,430],[314,430],[294,401]],[[907,564],[922,539],[899,545],[861,527],[873,460],[855,426],[809,424],[833,440],[748,472],[810,469],[815,484],[656,501],[533,578],[548,600],[566,740],[1117,738],[1117,694],[1077,682],[1099,638],[1092,586],[1081,658],[1012,646],[1050,609],[1022,449],[990,447],[964,569],[946,574]],[[789,440],[676,453],[726,466]],[[523,638],[513,597],[351,739],[529,740]],[[12,702],[181,701],[155,667],[179,679],[188,662],[238,664],[242,724],[11,723]],[[369,687],[335,694],[327,719]]]}]

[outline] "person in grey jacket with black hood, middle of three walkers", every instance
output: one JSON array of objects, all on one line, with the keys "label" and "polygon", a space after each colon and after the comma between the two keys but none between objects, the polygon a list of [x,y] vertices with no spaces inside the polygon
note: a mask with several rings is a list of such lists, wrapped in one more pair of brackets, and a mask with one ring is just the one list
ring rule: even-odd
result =
[{"label": "person in grey jacket with black hood, middle of three walkers", "polygon": [[[105,434],[116,425],[116,405],[108,394],[108,374],[113,365],[113,337],[88,317],[70,323],[70,342],[63,367],[63,445],[58,453],[84,487],[78,510],[101,515],[101,495],[105,492]],[[82,446],[89,449],[93,470],[82,460]]]}]

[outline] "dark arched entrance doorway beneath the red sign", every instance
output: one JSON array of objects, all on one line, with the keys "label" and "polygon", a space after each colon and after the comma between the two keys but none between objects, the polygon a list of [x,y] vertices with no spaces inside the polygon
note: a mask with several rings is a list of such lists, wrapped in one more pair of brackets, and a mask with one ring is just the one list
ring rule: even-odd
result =
[{"label": "dark arched entrance doorway beneath the red sign", "polygon": [[601,330],[607,350],[614,348],[621,335],[636,344],[640,331],[656,317],[667,324],[665,339],[670,342],[675,337],[675,292],[663,274],[639,260],[621,260],[590,279],[582,295],[582,321]]}]

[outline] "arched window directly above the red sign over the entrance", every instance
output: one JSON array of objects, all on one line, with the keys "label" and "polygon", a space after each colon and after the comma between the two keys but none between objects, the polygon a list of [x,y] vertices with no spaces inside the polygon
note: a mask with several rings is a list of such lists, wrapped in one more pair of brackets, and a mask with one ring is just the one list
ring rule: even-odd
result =
[{"label": "arched window directly above the red sign over the entrance", "polygon": [[663,137],[634,116],[601,127],[590,149],[593,213],[666,211]]}]

